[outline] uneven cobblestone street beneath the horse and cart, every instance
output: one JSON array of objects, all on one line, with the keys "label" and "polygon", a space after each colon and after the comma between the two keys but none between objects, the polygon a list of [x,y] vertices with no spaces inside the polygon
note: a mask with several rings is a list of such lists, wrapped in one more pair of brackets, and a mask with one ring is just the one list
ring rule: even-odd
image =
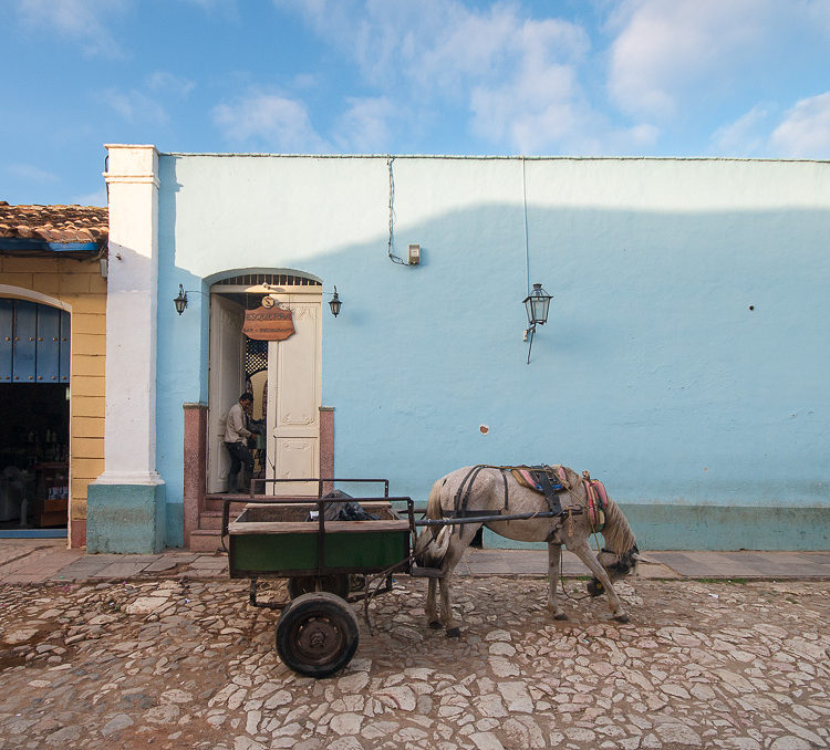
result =
[{"label": "uneven cobblestone street beneath the horse and cart", "polygon": [[450,639],[403,577],[318,681],[280,663],[247,582],[7,584],[0,747],[830,747],[830,583],[636,579],[627,625],[604,597],[554,623],[546,586],[458,581]]}]

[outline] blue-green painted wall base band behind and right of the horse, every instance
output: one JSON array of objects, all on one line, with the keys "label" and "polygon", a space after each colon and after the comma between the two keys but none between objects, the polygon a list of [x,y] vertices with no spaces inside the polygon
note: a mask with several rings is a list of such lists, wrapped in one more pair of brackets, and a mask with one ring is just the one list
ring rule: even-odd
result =
[{"label": "blue-green painted wall base band behind and right of the horse", "polygon": [[[620,503],[644,550],[830,550],[830,508]],[[547,549],[484,530],[486,549]]]}]

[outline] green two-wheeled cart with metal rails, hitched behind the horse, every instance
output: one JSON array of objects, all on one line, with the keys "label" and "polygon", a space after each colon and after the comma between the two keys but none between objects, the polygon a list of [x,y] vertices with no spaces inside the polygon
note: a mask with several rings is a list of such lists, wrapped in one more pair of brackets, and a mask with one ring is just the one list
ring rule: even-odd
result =
[{"label": "green two-wheeled cart with metal rails, hitched behind the horse", "polygon": [[[392,572],[412,572],[413,502],[388,497],[383,479],[292,481],[318,482],[318,499],[251,497],[232,522],[227,520],[228,500],[222,534],[227,531],[230,576],[251,580],[251,604],[282,611],[277,624],[282,662],[301,675],[326,677],[357,650],[357,619],[349,603],[369,596],[373,575],[383,584],[374,595],[391,591]],[[347,481],[383,482],[384,494],[322,497],[324,483]],[[326,506],[343,501],[360,503],[378,519],[326,521]],[[288,579],[289,602],[257,600],[258,581],[268,577]]]}]

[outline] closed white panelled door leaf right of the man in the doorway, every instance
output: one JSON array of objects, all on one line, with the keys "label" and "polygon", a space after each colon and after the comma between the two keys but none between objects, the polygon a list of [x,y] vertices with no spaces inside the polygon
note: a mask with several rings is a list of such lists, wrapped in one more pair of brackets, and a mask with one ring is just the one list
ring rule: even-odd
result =
[{"label": "closed white panelled door leaf right of the man in the doorway", "polygon": [[[320,476],[321,295],[278,294],[291,310],[295,333],[268,344],[267,476]],[[274,494],[317,494],[318,486],[279,482]]]}]

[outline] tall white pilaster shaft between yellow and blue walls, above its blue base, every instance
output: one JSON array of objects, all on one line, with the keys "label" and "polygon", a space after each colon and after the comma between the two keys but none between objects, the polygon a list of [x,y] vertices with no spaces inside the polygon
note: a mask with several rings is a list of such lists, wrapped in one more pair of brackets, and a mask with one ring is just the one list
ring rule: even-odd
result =
[{"label": "tall white pilaster shaft between yellow and blue walls, above its blue base", "polygon": [[158,153],[107,145],[106,425],[103,485],[157,485]]}]

